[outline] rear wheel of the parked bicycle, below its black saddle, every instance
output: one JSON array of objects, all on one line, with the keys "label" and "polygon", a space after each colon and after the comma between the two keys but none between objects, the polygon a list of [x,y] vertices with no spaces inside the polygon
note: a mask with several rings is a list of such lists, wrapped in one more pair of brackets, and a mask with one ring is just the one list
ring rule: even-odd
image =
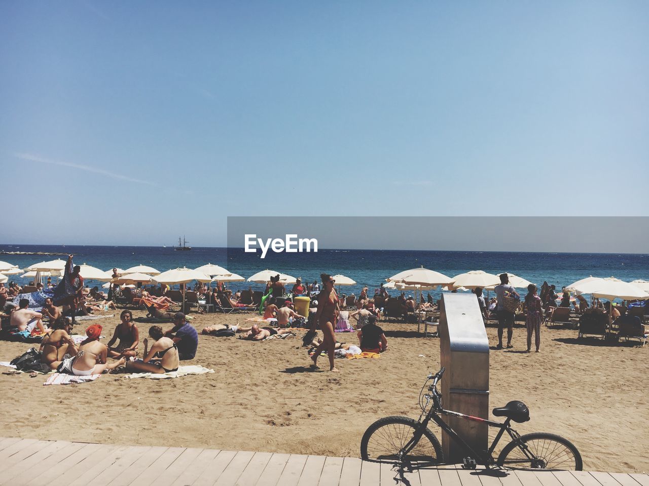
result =
[{"label": "rear wheel of the parked bicycle, below its black saddle", "polygon": [[511,469],[582,470],[582,456],[567,439],[554,434],[526,434],[506,445],[498,466]]}]

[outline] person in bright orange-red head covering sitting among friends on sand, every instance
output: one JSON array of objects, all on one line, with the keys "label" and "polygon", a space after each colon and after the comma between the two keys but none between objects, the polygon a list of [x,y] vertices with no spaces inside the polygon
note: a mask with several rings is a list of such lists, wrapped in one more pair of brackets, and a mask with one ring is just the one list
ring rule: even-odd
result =
[{"label": "person in bright orange-red head covering sitting among friends on sand", "polygon": [[99,324],[88,326],[86,329],[88,338],[80,344],[77,356],[64,358],[56,371],[77,376],[100,375],[106,370],[110,371],[125,364],[126,358],[121,358],[116,363],[106,363],[108,347],[99,342],[102,330]]}]

